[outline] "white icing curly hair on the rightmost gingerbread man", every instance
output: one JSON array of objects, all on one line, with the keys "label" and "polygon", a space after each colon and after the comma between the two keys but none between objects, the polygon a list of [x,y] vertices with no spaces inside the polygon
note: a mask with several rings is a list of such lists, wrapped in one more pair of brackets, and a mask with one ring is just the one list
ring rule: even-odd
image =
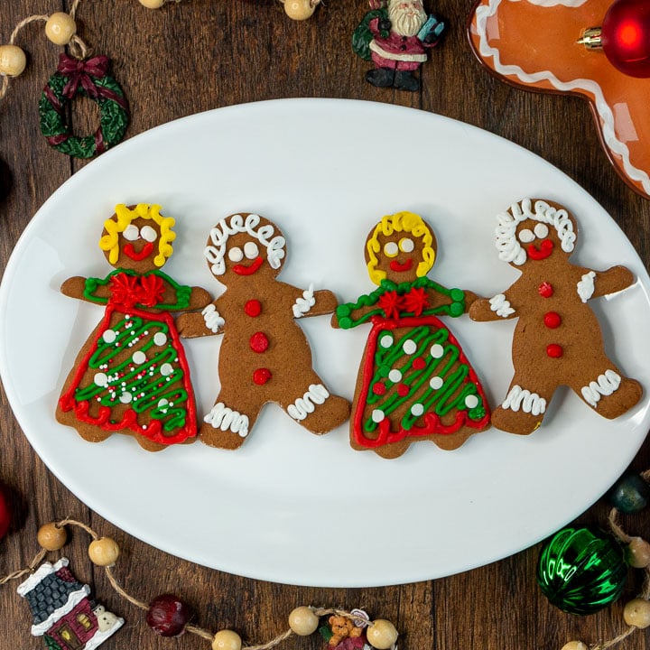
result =
[{"label": "white icing curly hair on the rightmost gingerbread man", "polygon": [[497,215],[496,246],[500,260],[517,266],[525,263],[528,255],[517,240],[516,227],[529,218],[555,228],[558,237],[560,237],[562,250],[565,253],[573,251],[576,233],[567,211],[552,208],[543,200],[535,201],[533,206],[533,201],[524,199],[520,203],[513,203],[509,211]]}]

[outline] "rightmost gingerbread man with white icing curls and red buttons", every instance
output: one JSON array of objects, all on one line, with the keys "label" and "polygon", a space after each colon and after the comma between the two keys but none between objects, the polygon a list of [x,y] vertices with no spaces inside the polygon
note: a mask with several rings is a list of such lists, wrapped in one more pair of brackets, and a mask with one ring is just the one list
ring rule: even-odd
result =
[{"label": "rightmost gingerbread man with white icing curls and red buttons", "polygon": [[512,343],[515,376],[492,414],[494,425],[506,432],[534,432],[559,385],[570,386],[606,418],[626,413],[643,389],[608,358],[587,302],[627,288],[633,275],[625,266],[593,271],[572,265],[578,228],[557,203],[525,199],[497,220],[499,259],[521,277],[469,310],[473,320],[518,319]]}]

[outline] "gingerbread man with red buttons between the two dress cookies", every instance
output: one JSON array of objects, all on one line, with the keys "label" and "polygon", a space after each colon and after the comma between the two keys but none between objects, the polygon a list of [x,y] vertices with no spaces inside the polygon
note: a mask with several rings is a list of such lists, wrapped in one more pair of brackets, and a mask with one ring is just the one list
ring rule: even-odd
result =
[{"label": "gingerbread man with red buttons between the two dress cookies", "polygon": [[277,281],[285,253],[280,229],[259,215],[230,215],[210,231],[205,256],[226,292],[178,320],[183,337],[224,334],[221,392],[199,432],[210,446],[240,447],[268,402],[312,433],[329,432],[349,417],[348,401],[330,395],[312,369],[309,343],[296,322],[331,313],[336,297]]}]

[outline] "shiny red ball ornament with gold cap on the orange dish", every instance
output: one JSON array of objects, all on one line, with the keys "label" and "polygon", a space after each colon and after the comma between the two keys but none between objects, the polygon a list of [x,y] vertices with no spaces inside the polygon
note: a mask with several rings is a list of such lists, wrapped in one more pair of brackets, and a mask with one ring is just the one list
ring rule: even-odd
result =
[{"label": "shiny red ball ornament with gold cap on the orange dish", "polygon": [[630,77],[650,77],[650,3],[617,0],[601,27],[591,27],[580,40],[590,49],[602,48],[608,61]]}]

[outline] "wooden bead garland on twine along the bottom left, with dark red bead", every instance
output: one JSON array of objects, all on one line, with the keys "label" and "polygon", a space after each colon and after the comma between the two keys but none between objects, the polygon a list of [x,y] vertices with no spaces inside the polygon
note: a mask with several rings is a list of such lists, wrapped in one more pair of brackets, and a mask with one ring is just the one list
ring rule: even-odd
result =
[{"label": "wooden bead garland on twine along the bottom left, with dark red bead", "polygon": [[[5,584],[9,580],[21,579],[25,575],[36,571],[47,552],[59,551],[67,542],[67,526],[81,528],[92,537],[92,542],[88,545],[88,557],[91,562],[104,568],[113,589],[135,607],[143,609],[146,612],[149,627],[162,636],[179,636],[189,632],[209,641],[211,650],[271,650],[271,648],[282,644],[283,641],[293,635],[309,636],[313,634],[319,627],[320,618],[334,615],[347,618],[355,626],[366,627],[367,643],[376,650],[397,650],[395,645],[397,630],[395,626],[383,618],[377,618],[375,621],[367,620],[366,613],[359,609],[348,612],[334,608],[307,606],[295,608],[289,615],[289,629],[264,645],[242,645],[241,637],[234,630],[223,629],[212,633],[209,630],[191,625],[189,623],[192,615],[190,607],[172,594],[158,596],[148,604],[128,594],[119,585],[112,571],[112,567],[119,557],[119,546],[116,541],[110,537],[100,537],[88,525],[70,518],[42,525],[38,532],[38,542],[42,546],[41,551],[36,554],[26,569],[14,571],[5,576],[5,578],[0,579],[0,584]],[[167,611],[171,611],[172,615],[166,617]],[[115,615],[111,614],[111,616],[115,618]]]}]

